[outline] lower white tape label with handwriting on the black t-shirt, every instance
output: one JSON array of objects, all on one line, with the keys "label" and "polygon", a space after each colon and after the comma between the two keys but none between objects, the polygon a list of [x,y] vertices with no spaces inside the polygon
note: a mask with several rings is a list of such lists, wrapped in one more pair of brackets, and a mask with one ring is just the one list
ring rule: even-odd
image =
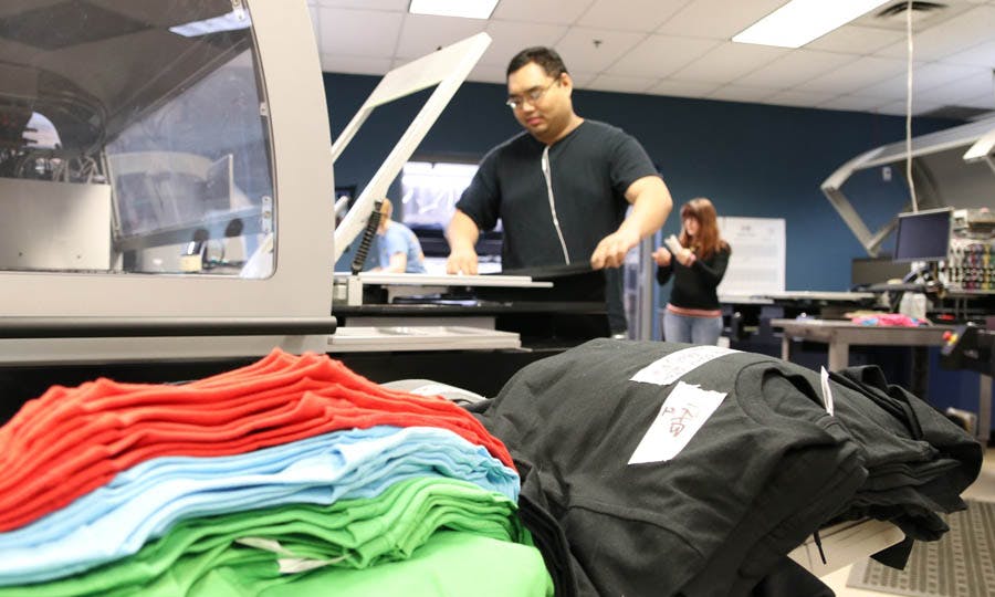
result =
[{"label": "lower white tape label with handwriting on the black t-shirt", "polygon": [[629,464],[666,462],[678,455],[724,398],[723,391],[703,390],[678,381],[632,452]]}]

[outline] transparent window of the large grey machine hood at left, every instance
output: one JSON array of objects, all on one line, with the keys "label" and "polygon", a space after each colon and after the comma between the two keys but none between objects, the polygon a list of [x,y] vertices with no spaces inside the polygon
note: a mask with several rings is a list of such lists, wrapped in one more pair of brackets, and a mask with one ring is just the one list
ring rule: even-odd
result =
[{"label": "transparent window of the large grey machine hood at left", "polygon": [[262,82],[241,0],[2,2],[0,270],[270,275]]}]

